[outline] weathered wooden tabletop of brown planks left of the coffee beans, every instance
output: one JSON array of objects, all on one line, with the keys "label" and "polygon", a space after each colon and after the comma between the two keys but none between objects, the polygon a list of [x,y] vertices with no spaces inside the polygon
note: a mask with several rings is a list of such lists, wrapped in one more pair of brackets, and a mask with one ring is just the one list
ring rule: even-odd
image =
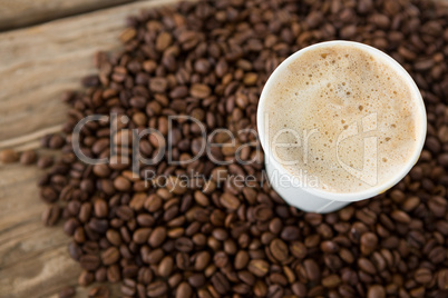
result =
[{"label": "weathered wooden tabletop of brown planks left of the coffee beans", "polygon": [[[0,30],[47,21],[0,32],[0,150],[37,148],[40,136],[58,131],[67,110],[61,92],[79,89],[80,78],[95,72],[97,50],[120,47],[126,16],[171,1],[124,2],[129,1],[0,0]],[[110,4],[116,7],[103,9]],[[61,18],[86,9],[95,11]],[[77,286],[80,267],[68,255],[69,237],[60,224],[41,224],[40,176],[36,167],[0,165],[2,298],[57,297],[61,288]],[[77,287],[77,297],[87,290]]]}]

